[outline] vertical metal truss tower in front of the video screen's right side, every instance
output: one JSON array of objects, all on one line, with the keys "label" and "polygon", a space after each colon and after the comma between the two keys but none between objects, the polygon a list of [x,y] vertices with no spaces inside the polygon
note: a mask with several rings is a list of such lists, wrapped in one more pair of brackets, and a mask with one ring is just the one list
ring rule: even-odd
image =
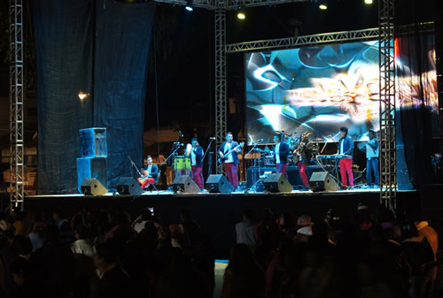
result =
[{"label": "vertical metal truss tower in front of the video screen's right side", "polygon": [[396,209],[394,0],[379,0],[380,203]]}]

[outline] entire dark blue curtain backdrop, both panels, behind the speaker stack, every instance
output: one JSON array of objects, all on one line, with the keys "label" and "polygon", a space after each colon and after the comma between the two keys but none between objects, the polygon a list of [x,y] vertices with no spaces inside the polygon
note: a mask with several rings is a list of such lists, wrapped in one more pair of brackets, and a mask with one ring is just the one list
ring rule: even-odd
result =
[{"label": "entire dark blue curtain backdrop, both panels, behind the speaker stack", "polygon": [[[92,126],[107,128],[108,184],[113,187],[120,176],[130,174],[128,156],[139,165],[143,160],[144,93],[155,4],[105,0],[32,4],[38,193],[78,192],[78,131]],[[81,101],[80,90],[91,96]]]}]

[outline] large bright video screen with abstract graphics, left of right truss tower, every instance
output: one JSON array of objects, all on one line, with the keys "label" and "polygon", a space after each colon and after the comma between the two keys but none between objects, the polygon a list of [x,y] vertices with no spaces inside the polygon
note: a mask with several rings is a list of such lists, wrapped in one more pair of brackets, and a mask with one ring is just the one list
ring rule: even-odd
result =
[{"label": "large bright video screen with abstract graphics, left of right truss tower", "polygon": [[275,132],[338,141],[378,131],[378,42],[350,42],[245,54],[248,141]]}]

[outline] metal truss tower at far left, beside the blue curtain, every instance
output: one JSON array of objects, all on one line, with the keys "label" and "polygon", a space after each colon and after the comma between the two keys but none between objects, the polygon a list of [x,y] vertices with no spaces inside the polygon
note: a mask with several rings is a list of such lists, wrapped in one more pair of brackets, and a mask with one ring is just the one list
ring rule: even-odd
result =
[{"label": "metal truss tower at far left, beside the blue curtain", "polygon": [[24,205],[24,142],[23,142],[23,5],[22,0],[10,0],[10,210],[22,210]]}]

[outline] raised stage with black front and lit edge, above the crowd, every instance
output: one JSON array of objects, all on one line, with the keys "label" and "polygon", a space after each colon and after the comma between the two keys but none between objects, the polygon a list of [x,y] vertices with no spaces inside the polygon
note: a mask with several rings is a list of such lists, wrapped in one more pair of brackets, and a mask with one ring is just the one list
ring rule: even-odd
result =
[{"label": "raised stage with black front and lit edge, above the crowd", "polygon": [[[314,221],[324,219],[330,208],[338,211],[340,218],[352,221],[357,205],[361,202],[375,212],[380,202],[379,189],[357,188],[338,191],[299,191],[291,193],[265,193],[236,191],[230,194],[175,194],[170,190],[144,192],[143,195],[119,195],[108,193],[89,195],[27,195],[26,210],[49,212],[61,209],[66,215],[75,210],[108,210],[112,214],[123,210],[136,218],[142,210],[153,207],[161,215],[164,225],[178,223],[180,210],[190,210],[191,218],[201,225],[203,234],[210,237],[219,257],[227,257],[234,244],[234,226],[242,220],[242,211],[251,209],[255,222],[260,221],[261,210],[270,208],[277,215],[290,211],[295,218],[310,215]],[[398,191],[397,212],[419,209],[420,198],[416,191]]]}]

